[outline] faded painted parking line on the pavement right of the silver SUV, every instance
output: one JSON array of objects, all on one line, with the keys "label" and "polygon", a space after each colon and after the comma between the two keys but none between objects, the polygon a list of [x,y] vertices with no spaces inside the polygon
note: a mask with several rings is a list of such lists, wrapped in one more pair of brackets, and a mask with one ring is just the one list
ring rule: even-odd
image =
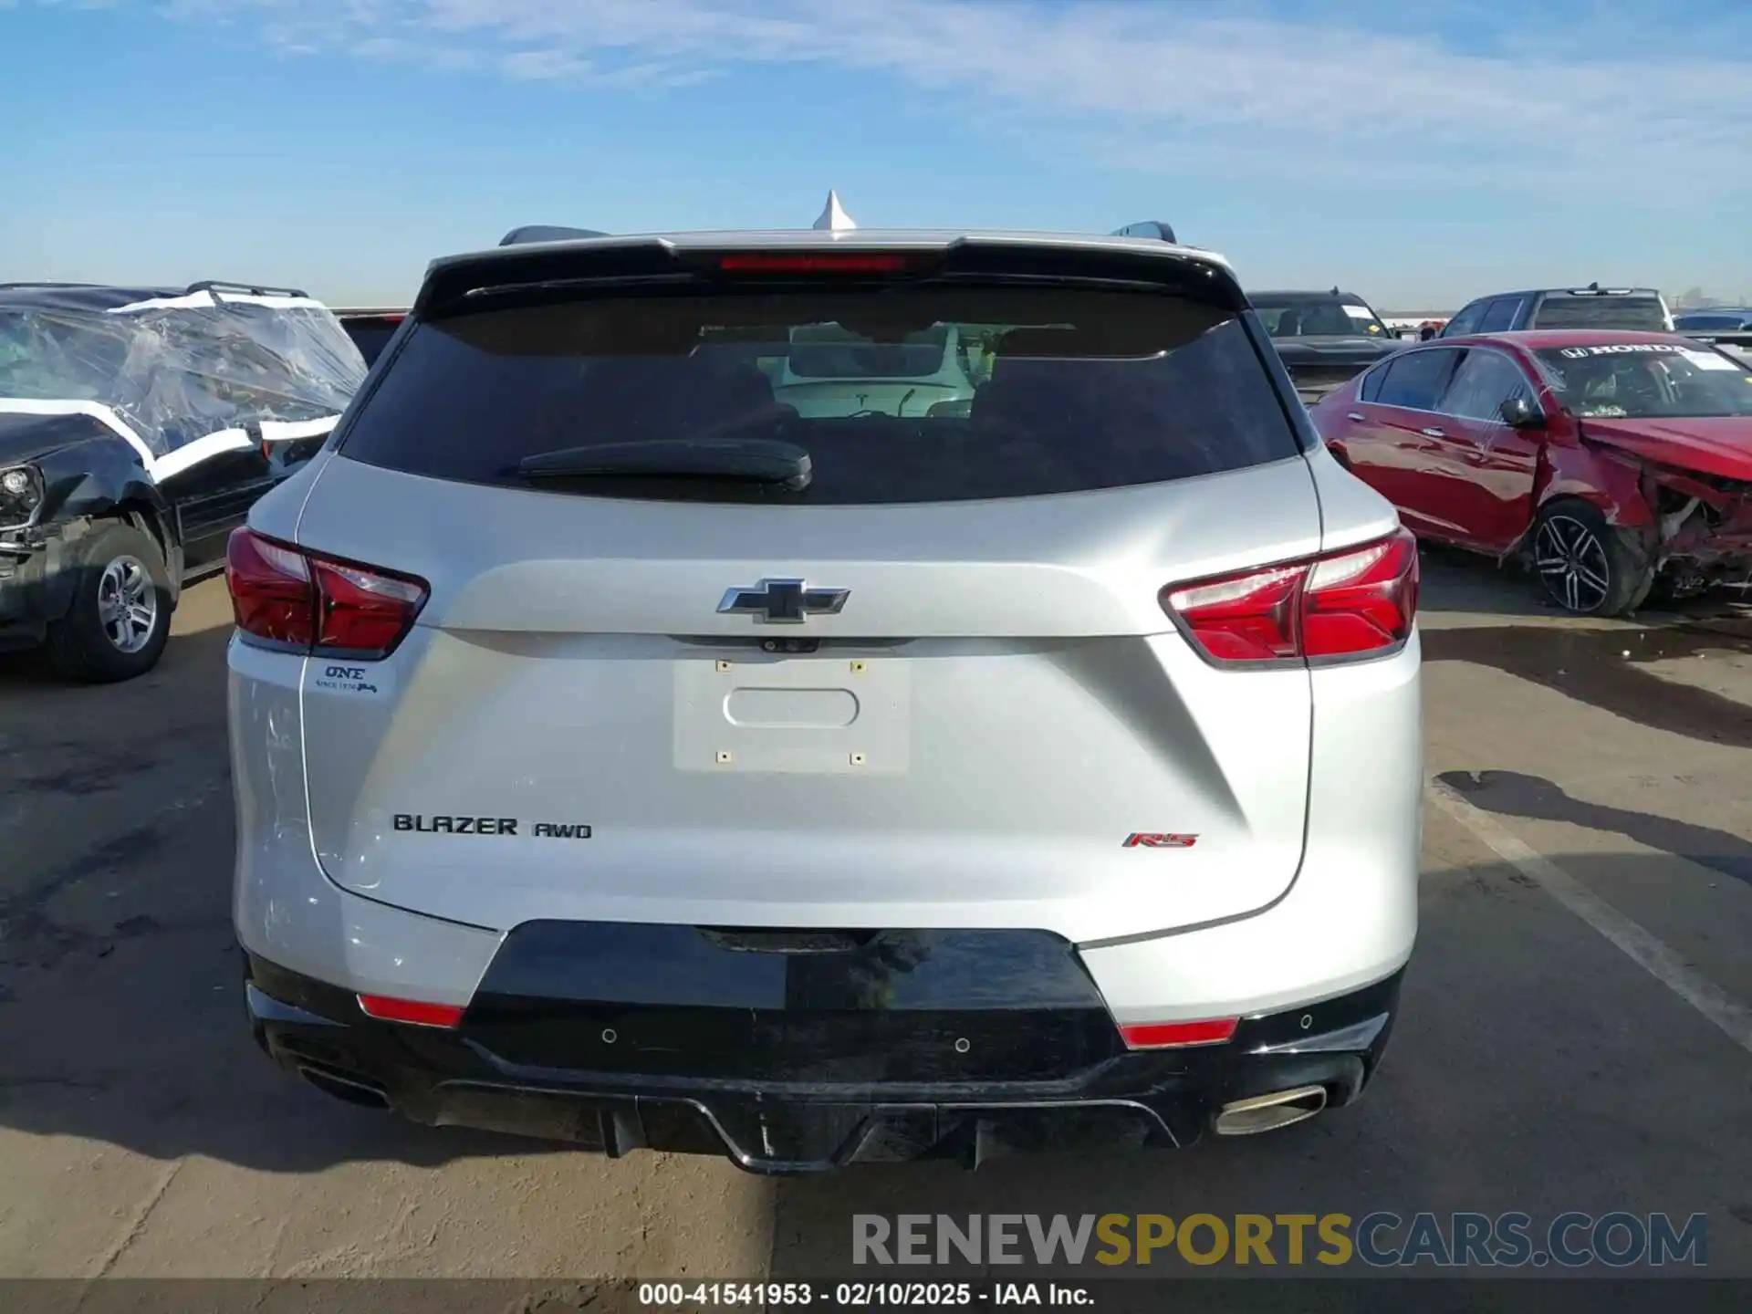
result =
[{"label": "faded painted parking line on the pavement right of the silver SUV", "polygon": [[1430,781],[1435,804],[1477,836],[1496,857],[1533,880],[1545,894],[1617,944],[1649,976],[1713,1021],[1747,1053],[1752,1053],[1752,1009],[1705,979],[1670,944],[1589,890],[1556,862],[1512,836],[1494,818],[1473,808],[1452,787]]}]

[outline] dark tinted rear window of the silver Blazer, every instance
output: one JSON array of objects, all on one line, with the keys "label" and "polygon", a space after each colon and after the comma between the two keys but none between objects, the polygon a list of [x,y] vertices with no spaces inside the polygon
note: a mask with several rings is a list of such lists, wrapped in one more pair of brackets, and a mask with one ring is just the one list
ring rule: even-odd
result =
[{"label": "dark tinted rear window of the silver Blazer", "polygon": [[930,503],[1158,484],[1300,450],[1232,312],[1172,294],[929,284],[643,291],[422,322],[342,450],[527,487],[519,463],[543,452],[731,438],[801,447],[808,485],[645,471],[564,491]]}]

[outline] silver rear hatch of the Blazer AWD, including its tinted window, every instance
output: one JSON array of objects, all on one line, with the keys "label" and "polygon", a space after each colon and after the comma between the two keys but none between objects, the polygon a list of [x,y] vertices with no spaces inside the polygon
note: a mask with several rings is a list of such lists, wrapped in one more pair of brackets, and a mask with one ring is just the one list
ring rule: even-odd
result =
[{"label": "silver rear hatch of the Blazer AWD, including its tinted window", "polygon": [[[1212,664],[1158,601],[1319,548],[1232,277],[1039,247],[841,258],[433,273],[298,527],[429,585],[387,659],[307,664],[335,881],[494,929],[1077,941],[1284,892],[1309,671]],[[797,329],[941,326],[992,343],[965,413],[848,392],[799,415],[760,368]]]}]

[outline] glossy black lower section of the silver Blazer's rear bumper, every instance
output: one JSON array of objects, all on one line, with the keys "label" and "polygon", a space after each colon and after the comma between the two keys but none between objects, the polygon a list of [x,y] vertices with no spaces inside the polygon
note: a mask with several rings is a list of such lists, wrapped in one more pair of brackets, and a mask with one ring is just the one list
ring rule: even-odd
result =
[{"label": "glossy black lower section of the silver Blazer's rear bumper", "polygon": [[[650,932],[638,955],[646,971],[620,976],[624,958],[613,976],[555,974],[555,950],[585,948],[592,930]],[[342,1099],[610,1156],[725,1155],[752,1172],[797,1174],[1184,1146],[1226,1104],[1302,1086],[1349,1104],[1386,1048],[1402,976],[1244,1018],[1225,1044],[1128,1051],[1076,951],[1039,932],[993,932],[972,951],[962,932],[881,932],[851,953],[650,957],[685,937],[701,939],[690,927],[547,923],[519,944],[513,932],[456,1030],[378,1021],[354,993],[256,955],[245,997],[263,1049]],[[899,946],[918,960],[895,967]],[[995,965],[1018,948],[1032,962],[1004,979],[1004,997],[990,976],[965,979],[981,957]],[[678,993],[683,967],[696,986]],[[550,993],[513,993],[536,981]],[[699,1002],[704,993],[718,1002]],[[757,997],[769,1007],[745,1007]]]}]

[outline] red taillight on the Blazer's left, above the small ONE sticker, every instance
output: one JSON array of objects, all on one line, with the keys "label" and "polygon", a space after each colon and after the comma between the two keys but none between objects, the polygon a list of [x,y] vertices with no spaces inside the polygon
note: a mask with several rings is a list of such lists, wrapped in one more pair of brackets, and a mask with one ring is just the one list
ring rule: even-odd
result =
[{"label": "red taillight on the Blazer's left, above the small ONE sticker", "polygon": [[429,596],[412,575],[317,555],[249,529],[231,533],[224,575],[231,615],[249,638],[356,661],[394,652]]}]

